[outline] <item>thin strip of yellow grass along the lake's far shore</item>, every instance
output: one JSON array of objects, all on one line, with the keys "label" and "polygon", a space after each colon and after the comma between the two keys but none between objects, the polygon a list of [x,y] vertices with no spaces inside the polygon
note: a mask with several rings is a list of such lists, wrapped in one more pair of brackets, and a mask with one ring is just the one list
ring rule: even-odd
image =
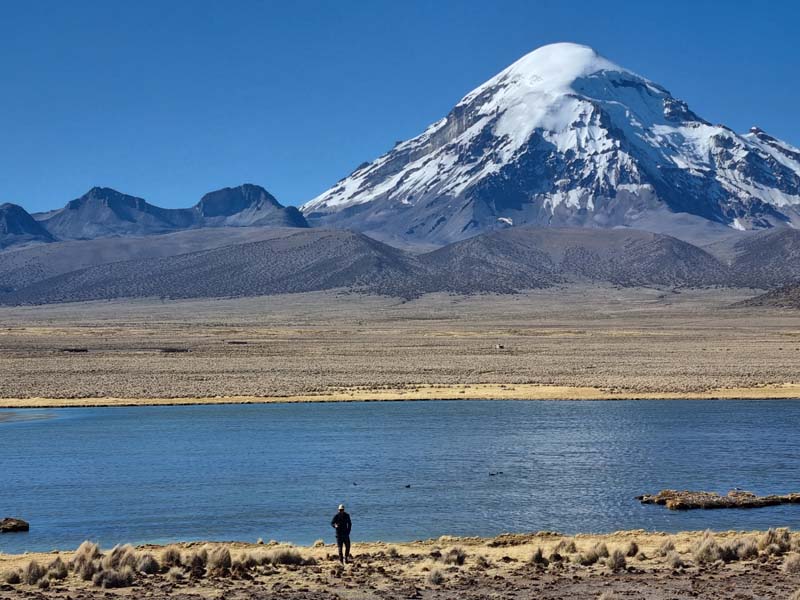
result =
[{"label": "thin strip of yellow grass along the lake's far shore", "polygon": [[0,398],[6,408],[107,406],[183,406],[202,404],[292,404],[311,402],[397,402],[426,400],[797,400],[800,384],[719,388],[700,392],[636,392],[531,384],[420,385],[408,388],[351,388],[290,396],[217,396],[208,398]]}]

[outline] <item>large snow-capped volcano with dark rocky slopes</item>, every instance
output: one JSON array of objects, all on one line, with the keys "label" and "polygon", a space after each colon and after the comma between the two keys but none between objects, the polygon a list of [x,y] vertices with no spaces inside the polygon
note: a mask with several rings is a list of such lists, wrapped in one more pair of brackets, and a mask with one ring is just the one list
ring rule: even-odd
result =
[{"label": "large snow-capped volcano with dark rocky slopes", "polygon": [[800,150],[738,135],[577,44],[524,56],[302,207],[316,224],[446,243],[523,223],[800,223]]}]

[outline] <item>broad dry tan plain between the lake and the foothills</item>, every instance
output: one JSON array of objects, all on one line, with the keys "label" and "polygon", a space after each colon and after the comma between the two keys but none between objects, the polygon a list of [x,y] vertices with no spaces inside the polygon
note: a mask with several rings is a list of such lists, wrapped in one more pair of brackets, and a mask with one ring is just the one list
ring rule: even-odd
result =
[{"label": "broad dry tan plain between the lake and the foothills", "polygon": [[798,398],[800,312],[729,308],[754,293],[573,286],[6,307],[0,406]]}]

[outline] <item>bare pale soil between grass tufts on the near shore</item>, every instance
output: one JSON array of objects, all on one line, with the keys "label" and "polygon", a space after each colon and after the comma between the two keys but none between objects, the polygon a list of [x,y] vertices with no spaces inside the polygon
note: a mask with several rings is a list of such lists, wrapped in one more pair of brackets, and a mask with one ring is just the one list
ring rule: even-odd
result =
[{"label": "bare pale soil between grass tufts on the near shore", "polygon": [[[356,543],[354,562],[341,569],[331,545],[297,548],[303,558],[314,558],[316,564],[304,566],[252,567],[244,577],[199,576],[172,582],[167,576],[137,575],[132,587],[104,590],[70,573],[64,581],[52,581],[51,588],[41,591],[24,584],[0,585],[0,599],[17,598],[181,598],[181,599],[597,599],[636,598],[666,600],[702,599],[788,599],[800,589],[800,572],[787,572],[785,564],[796,556],[796,550],[775,556],[761,552],[748,560],[701,564],[693,546],[700,532],[675,535],[617,532],[609,535],[578,535],[565,538],[554,533],[507,534],[493,539],[439,538],[400,544]],[[722,532],[715,534],[720,544],[750,538],[758,540],[758,532]],[[795,534],[793,545],[798,545]],[[659,552],[666,540],[672,540],[675,551],[685,566],[673,568],[670,559]],[[562,541],[575,543],[574,551],[563,552],[563,561],[547,566],[531,559],[538,548],[549,556]],[[577,556],[603,543],[610,552],[625,550],[631,541],[638,545],[637,557],[629,557],[621,570],[614,572],[606,564],[583,566]],[[271,544],[274,544],[271,542]],[[212,549],[220,544],[180,544],[184,557],[200,548]],[[284,546],[225,544],[234,561],[246,555],[258,558]],[[463,564],[447,564],[437,554],[446,555],[451,548],[465,552]],[[138,552],[151,553],[160,559],[163,549],[144,546]],[[68,562],[73,554],[61,553]],[[0,572],[22,568],[36,560],[47,565],[55,553],[10,556],[0,554]],[[186,559],[184,559],[186,560]],[[430,574],[439,571],[441,582],[433,582]],[[603,596],[603,594],[606,594]]]}]

